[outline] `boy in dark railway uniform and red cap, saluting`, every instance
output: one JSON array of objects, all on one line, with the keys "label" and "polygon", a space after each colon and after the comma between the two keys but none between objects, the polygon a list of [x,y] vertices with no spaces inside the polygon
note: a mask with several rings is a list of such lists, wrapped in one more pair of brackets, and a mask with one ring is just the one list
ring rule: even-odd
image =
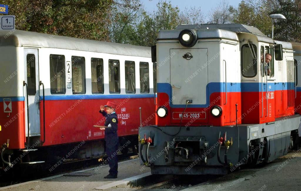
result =
[{"label": "boy in dark railway uniform and red cap, saluting", "polygon": [[[108,156],[108,162],[110,166],[109,174],[104,178],[117,178],[118,174],[118,135],[117,135],[117,124],[118,118],[115,112],[116,104],[108,101],[107,105],[100,106],[100,113],[106,118],[104,126],[110,128],[100,128],[104,130],[104,140],[106,141],[106,153]],[[104,109],[107,110],[104,111]]]}]

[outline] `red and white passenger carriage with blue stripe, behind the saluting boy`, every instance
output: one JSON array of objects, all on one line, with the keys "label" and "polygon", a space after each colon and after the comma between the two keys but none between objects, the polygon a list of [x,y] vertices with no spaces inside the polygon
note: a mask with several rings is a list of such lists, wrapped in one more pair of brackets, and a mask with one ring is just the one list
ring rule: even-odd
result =
[{"label": "red and white passenger carriage with blue stripe, behind the saluting boy", "polygon": [[4,168],[102,156],[104,131],[93,125],[104,124],[108,100],[123,147],[138,144],[139,107],[142,118],[155,111],[151,48],[16,30],[0,32],[0,57]]}]

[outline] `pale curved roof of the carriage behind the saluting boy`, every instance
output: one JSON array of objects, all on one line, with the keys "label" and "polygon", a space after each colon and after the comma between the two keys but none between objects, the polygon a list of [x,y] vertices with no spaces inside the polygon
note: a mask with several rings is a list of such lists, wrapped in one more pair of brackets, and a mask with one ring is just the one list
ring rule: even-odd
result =
[{"label": "pale curved roof of the carriage behind the saluting boy", "polygon": [[151,57],[150,47],[77,39],[22,30],[15,30],[14,32],[0,31],[0,46],[61,48],[126,56]]}]

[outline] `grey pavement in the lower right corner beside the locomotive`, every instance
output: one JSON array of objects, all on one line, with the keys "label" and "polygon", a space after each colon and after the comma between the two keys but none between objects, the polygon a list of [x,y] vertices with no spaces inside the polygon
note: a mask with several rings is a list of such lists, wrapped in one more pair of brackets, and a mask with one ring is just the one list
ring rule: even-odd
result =
[{"label": "grey pavement in the lower right corner beside the locomotive", "polygon": [[266,165],[249,168],[184,189],[194,190],[301,190],[301,150]]}]

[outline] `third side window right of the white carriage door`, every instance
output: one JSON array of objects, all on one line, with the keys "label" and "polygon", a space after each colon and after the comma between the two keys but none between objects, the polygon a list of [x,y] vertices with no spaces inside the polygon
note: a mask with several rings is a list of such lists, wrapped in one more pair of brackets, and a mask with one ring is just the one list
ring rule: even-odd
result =
[{"label": "third side window right of the white carriage door", "polygon": [[104,93],[104,60],[91,58],[92,94]]}]

